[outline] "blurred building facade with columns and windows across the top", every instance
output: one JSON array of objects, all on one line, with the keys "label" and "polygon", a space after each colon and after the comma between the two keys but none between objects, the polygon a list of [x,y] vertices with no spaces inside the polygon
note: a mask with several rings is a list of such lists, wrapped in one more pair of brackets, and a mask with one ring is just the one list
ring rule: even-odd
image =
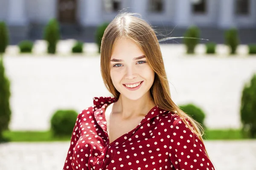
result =
[{"label": "blurred building facade with columns and windows across the top", "polygon": [[256,29],[256,0],[0,0],[0,21],[15,34],[52,18],[62,25],[96,27],[119,11],[137,12],[153,26]]}]

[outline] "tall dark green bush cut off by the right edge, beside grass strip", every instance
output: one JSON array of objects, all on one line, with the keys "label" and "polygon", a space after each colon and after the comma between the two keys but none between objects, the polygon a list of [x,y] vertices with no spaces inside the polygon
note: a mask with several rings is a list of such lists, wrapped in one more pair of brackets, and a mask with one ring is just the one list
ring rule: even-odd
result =
[{"label": "tall dark green bush cut off by the right edge, beside grass strip", "polygon": [[256,138],[256,74],[250,80],[250,83],[244,85],[241,97],[241,122],[243,131],[250,138]]}]

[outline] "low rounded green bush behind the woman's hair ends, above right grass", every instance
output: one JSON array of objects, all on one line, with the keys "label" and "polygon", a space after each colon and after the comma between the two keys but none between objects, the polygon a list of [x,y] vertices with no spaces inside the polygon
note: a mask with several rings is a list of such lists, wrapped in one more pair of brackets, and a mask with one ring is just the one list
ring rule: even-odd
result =
[{"label": "low rounded green bush behind the woman's hair ends, above right grass", "polygon": [[181,105],[179,108],[191,116],[194,120],[196,120],[198,123],[200,123],[204,128],[204,119],[205,119],[205,113],[201,110],[201,108],[193,105],[193,104],[187,104],[187,105]]}]

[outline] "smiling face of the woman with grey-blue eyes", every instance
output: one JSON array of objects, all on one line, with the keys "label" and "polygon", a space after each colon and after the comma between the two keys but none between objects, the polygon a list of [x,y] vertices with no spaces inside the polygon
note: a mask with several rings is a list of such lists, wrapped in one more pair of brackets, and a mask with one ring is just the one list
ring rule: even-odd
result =
[{"label": "smiling face of the woman with grey-blue eyes", "polygon": [[131,100],[150,93],[154,82],[154,71],[143,51],[130,39],[118,39],[114,43],[110,75],[116,90]]}]

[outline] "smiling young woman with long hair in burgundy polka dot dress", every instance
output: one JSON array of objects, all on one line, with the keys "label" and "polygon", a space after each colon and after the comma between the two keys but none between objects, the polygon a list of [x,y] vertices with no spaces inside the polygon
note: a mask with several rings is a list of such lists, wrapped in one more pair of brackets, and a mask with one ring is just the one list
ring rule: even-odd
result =
[{"label": "smiling young woman with long hair in burgundy polka dot dress", "polygon": [[113,97],[79,113],[64,170],[214,170],[201,126],[171,99],[148,23],[122,13],[109,24],[101,73]]}]

